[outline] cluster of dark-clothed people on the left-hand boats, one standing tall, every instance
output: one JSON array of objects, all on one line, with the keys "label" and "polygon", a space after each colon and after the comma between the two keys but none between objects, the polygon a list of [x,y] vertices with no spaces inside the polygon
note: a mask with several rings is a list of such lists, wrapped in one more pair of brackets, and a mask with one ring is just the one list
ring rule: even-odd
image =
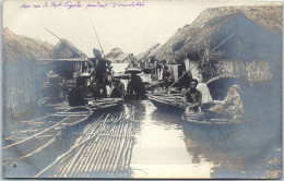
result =
[{"label": "cluster of dark-clothed people on the left-hand boats, one standing tall", "polygon": [[[84,106],[87,104],[87,98],[125,98],[129,94],[141,98],[145,94],[145,86],[139,75],[131,73],[126,89],[121,80],[113,76],[110,62],[104,59],[99,51],[94,50],[94,56],[95,59],[91,59],[93,65],[91,73],[76,77],[76,85],[69,92],[70,106]],[[107,93],[107,86],[111,89],[111,94]]]}]

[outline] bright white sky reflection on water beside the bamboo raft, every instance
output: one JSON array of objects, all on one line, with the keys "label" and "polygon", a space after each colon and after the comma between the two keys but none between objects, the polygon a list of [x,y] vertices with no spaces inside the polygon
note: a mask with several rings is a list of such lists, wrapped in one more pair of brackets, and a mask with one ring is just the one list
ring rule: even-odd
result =
[{"label": "bright white sky reflection on water beside the bamboo raft", "polygon": [[143,104],[144,113],[137,110],[141,119],[131,160],[134,177],[210,178],[210,162],[191,164],[179,116],[159,112],[149,100]]}]

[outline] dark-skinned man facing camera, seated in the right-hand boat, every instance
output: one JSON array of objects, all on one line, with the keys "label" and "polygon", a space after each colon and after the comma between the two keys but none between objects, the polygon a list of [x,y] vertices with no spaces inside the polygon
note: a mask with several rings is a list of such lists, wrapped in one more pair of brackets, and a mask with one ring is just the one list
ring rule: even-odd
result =
[{"label": "dark-skinned man facing camera, seated in the right-hand boat", "polygon": [[186,105],[186,112],[198,112],[202,101],[202,93],[197,89],[198,80],[189,81],[189,89],[184,93],[184,102]]}]

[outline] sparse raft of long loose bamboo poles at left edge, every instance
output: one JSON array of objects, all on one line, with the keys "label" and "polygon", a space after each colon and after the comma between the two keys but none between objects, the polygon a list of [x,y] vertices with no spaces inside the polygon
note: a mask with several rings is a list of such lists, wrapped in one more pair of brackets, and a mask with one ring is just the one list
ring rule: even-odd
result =
[{"label": "sparse raft of long loose bamboo poles at left edge", "polygon": [[[23,160],[35,156],[56,142],[67,126],[79,124],[88,119],[92,112],[82,114],[70,111],[57,112],[55,114],[37,118],[29,121],[20,121],[22,130],[15,130],[9,136],[3,137],[3,162],[2,166],[11,165],[11,161]],[[14,157],[10,154],[13,147],[25,147],[21,152],[22,155]]]}]

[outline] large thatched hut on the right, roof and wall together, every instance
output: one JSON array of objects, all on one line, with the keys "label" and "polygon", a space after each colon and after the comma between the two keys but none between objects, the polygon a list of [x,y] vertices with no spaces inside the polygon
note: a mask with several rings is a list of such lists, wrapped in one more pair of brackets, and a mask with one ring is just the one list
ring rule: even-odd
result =
[{"label": "large thatched hut on the right, roof and wall together", "polygon": [[154,56],[199,62],[204,82],[228,73],[242,74],[252,83],[269,81],[275,62],[281,63],[282,5],[208,9]]}]

